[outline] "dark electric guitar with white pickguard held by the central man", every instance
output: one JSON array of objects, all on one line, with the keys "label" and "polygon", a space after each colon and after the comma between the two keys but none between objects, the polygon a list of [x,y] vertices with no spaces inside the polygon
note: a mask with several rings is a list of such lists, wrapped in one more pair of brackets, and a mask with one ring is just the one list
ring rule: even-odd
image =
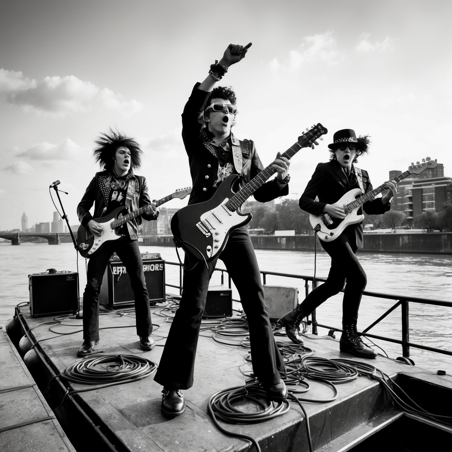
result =
[{"label": "dark electric guitar with white pickguard held by the central man", "polygon": [[[281,157],[292,158],[301,148],[311,146],[313,141],[327,132],[319,122],[298,137],[298,141]],[[268,165],[236,193],[234,187],[239,175],[231,174],[211,199],[176,212],[171,219],[175,245],[206,264],[216,259],[226,246],[231,231],[251,221],[251,213],[242,213],[240,206],[276,173],[272,166],[273,163]]]}]

